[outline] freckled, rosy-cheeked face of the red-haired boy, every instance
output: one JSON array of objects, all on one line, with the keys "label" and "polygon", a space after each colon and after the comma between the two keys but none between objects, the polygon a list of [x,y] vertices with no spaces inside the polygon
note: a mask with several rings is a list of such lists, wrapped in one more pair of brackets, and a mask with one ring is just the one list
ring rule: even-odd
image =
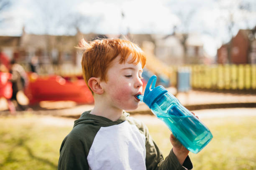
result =
[{"label": "freckled, rosy-cheeked face of the red-haired boy", "polygon": [[104,89],[103,96],[110,107],[121,110],[134,110],[138,107],[139,100],[136,95],[142,93],[141,63],[137,65],[127,62],[119,64],[120,56],[113,60],[107,72],[107,82],[101,82]]}]

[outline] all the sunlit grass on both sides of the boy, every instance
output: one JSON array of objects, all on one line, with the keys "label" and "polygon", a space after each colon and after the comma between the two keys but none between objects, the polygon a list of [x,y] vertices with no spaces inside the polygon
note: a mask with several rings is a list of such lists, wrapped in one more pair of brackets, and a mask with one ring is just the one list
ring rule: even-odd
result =
[{"label": "all the sunlit grass on both sides of the boy", "polygon": [[[61,142],[73,121],[36,115],[0,117],[0,169],[55,170]],[[202,121],[214,137],[200,153],[189,154],[195,170],[256,169],[255,116]],[[168,155],[172,148],[168,128],[162,123],[146,124],[163,155]]]}]

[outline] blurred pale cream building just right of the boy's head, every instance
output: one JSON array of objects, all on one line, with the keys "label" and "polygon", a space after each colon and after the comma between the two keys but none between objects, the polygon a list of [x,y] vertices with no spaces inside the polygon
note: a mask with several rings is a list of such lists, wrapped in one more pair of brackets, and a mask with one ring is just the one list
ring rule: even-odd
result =
[{"label": "blurred pale cream building just right of the boy's head", "polygon": [[205,52],[200,35],[154,35],[155,55],[168,65],[204,63]]}]

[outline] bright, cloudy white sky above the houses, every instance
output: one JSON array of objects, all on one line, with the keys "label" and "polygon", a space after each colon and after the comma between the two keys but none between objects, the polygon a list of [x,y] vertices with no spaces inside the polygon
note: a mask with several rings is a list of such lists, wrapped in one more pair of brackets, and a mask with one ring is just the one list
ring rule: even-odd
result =
[{"label": "bright, cloudy white sky above the houses", "polygon": [[[74,35],[189,32],[200,35],[205,51],[217,48],[239,29],[256,26],[256,0],[11,0],[1,13],[0,35],[28,33]],[[243,10],[239,9],[243,7]],[[244,10],[247,9],[247,10]],[[123,13],[123,15],[122,15]]]}]

